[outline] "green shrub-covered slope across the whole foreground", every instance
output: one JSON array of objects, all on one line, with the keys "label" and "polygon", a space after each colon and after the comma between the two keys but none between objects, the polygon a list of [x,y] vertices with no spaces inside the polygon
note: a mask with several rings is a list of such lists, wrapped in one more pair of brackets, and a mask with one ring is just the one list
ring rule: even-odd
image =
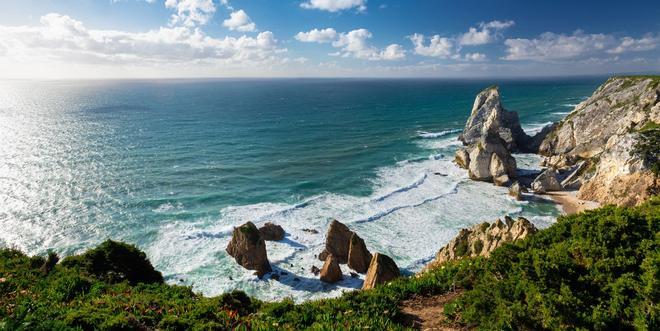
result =
[{"label": "green shrub-covered slope across the whole foreground", "polygon": [[[0,328],[401,329],[402,300],[461,288],[444,312],[467,327],[660,329],[658,197],[640,207],[560,217],[489,258],[465,258],[374,290],[303,304],[265,303],[242,292],[203,297],[163,284],[142,258],[133,246],[106,242],[45,273],[44,258],[0,250]],[[151,276],[129,276],[122,259]]]}]

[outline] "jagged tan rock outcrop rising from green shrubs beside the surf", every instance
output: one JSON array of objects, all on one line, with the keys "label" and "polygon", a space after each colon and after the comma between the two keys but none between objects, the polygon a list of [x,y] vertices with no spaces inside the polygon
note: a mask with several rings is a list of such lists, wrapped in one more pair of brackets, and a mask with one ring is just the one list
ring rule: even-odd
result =
[{"label": "jagged tan rock outcrop rising from green shrubs beside the surf", "polygon": [[484,222],[470,229],[462,229],[445,247],[435,255],[435,259],[425,269],[434,268],[447,261],[469,256],[489,256],[490,253],[504,243],[526,238],[534,234],[536,227],[523,217],[517,220],[506,216],[504,222],[493,224]]}]

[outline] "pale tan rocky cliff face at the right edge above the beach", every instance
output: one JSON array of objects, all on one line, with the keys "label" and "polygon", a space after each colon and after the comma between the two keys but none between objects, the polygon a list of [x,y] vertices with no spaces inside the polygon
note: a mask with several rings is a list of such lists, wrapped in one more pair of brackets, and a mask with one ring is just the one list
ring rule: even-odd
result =
[{"label": "pale tan rocky cliff face at the right edge above the beach", "polygon": [[635,205],[657,186],[648,162],[631,154],[639,132],[660,123],[660,77],[610,78],[543,139],[545,164],[562,169],[586,162],[572,183],[578,197]]}]

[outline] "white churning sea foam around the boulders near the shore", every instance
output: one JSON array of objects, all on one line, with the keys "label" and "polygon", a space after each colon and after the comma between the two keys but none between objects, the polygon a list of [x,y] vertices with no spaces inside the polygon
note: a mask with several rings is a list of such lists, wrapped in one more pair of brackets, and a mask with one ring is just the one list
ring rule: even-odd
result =
[{"label": "white churning sea foam around the boulders near the shore", "polygon": [[[239,288],[265,300],[333,297],[359,288],[363,281],[363,276],[350,277],[345,265],[344,280],[334,285],[320,282],[310,270],[322,265],[316,254],[323,249],[330,221],[337,219],[363,237],[372,252],[391,256],[406,272],[420,270],[459,229],[505,214],[524,214],[525,203],[509,198],[505,188],[469,180],[451,162],[454,145],[440,145],[444,150],[434,149],[439,154],[378,170],[370,196],[326,193],[297,204],[227,207],[218,220],[161,227],[147,254],[169,282],[193,285],[209,295]],[[535,162],[533,157],[522,158]],[[552,222],[552,217],[524,216],[543,227]],[[274,222],[286,230],[283,241],[267,242],[273,269],[286,273],[279,281],[258,280],[225,253],[233,227],[246,221],[257,226]]]}]

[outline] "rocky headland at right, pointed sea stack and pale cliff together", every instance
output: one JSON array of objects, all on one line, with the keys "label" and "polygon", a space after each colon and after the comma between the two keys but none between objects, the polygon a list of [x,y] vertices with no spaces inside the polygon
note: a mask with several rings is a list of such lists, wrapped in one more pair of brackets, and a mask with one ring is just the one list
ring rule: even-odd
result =
[{"label": "rocky headland at right, pointed sea stack and pale cliff together", "polygon": [[[488,87],[475,98],[456,164],[471,179],[535,194],[576,191],[575,199],[553,194],[565,212],[581,205],[636,205],[658,187],[653,161],[636,153],[645,128],[660,123],[660,79],[614,77],[558,123],[528,136],[518,114],[502,106],[499,90]],[[543,171],[520,174],[512,153],[544,157]],[[657,151],[656,151],[657,153]],[[592,203],[593,202],[593,203]]]}]

